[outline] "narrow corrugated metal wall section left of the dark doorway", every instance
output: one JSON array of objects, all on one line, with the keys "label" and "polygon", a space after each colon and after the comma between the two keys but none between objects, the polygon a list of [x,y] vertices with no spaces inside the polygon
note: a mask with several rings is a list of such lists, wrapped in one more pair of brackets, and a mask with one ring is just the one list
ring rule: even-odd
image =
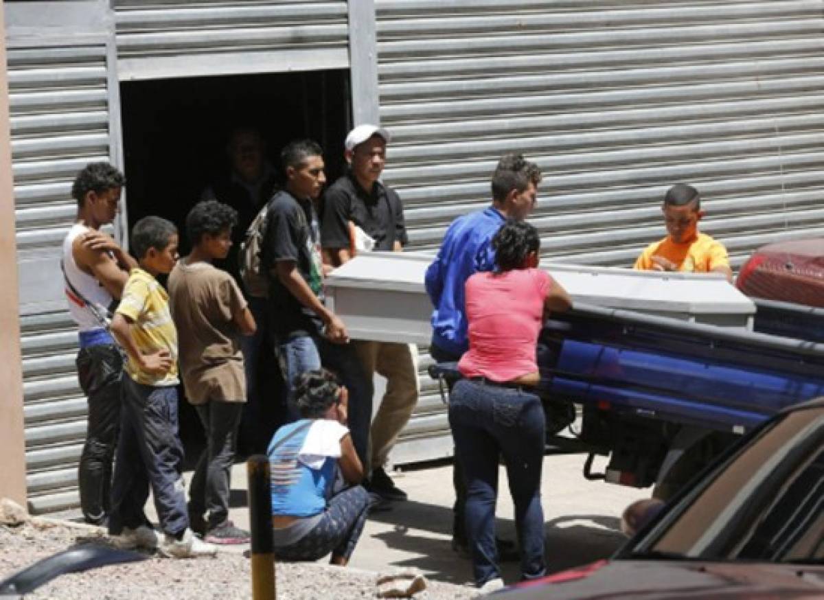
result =
[{"label": "narrow corrugated metal wall section left of the dark doorway", "polygon": [[77,504],[86,400],[59,254],[77,213],[74,176],[87,162],[110,160],[107,77],[105,45],[8,50],[26,468],[37,513]]}]

